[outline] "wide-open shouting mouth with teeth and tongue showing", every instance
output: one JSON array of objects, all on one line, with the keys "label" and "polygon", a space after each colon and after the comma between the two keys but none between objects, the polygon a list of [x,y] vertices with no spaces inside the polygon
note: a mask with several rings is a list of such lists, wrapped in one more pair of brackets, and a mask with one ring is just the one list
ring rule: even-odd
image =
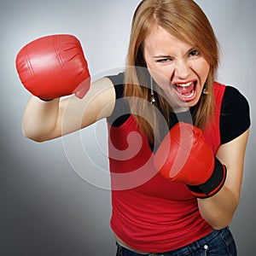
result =
[{"label": "wide-open shouting mouth with teeth and tongue showing", "polygon": [[196,81],[188,82],[185,84],[173,84],[177,95],[185,102],[192,101],[196,96]]}]

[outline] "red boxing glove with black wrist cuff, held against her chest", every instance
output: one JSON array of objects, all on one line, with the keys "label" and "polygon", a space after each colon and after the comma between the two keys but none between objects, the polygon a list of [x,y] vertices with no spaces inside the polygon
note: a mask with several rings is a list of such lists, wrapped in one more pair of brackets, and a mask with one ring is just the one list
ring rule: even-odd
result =
[{"label": "red boxing glove with black wrist cuff, held against her chest", "polygon": [[202,131],[177,123],[154,155],[154,166],[170,181],[185,183],[193,195],[207,198],[224,185],[226,167],[214,157]]}]

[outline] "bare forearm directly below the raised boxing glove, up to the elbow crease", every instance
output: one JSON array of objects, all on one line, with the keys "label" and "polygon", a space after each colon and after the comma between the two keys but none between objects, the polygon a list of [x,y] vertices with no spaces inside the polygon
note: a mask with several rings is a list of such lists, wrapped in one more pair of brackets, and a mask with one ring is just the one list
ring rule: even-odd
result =
[{"label": "bare forearm directly below the raised boxing glove, up to the elbow crease", "polygon": [[22,119],[22,131],[25,137],[42,142],[49,139],[58,119],[59,99],[44,102],[31,96],[26,104]]}]

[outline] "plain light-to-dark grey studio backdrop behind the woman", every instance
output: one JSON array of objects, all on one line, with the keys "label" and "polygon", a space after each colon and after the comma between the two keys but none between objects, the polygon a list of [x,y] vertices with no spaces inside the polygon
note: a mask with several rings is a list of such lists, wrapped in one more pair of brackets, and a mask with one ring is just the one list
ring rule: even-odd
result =
[{"label": "plain light-to-dark grey studio backdrop behind the woman", "polygon": [[[15,71],[15,55],[32,39],[71,33],[83,45],[93,79],[114,73],[124,66],[131,16],[139,2],[1,1],[0,255],[114,254],[106,122],[48,143],[23,137],[21,119],[29,93]],[[256,2],[196,2],[222,47],[218,81],[247,96],[253,119]],[[231,225],[242,256],[253,255],[255,247],[255,134],[252,125],[241,203]]]}]

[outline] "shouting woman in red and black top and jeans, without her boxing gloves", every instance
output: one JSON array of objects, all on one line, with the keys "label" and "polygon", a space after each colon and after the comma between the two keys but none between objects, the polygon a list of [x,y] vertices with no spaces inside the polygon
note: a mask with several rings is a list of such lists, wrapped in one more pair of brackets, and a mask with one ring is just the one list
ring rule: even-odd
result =
[{"label": "shouting woman in red and black top and jeans, without her boxing gloves", "polygon": [[[143,0],[124,73],[97,80],[82,100],[37,95],[27,103],[23,131],[38,142],[107,118],[117,255],[236,255],[229,224],[240,198],[250,118],[241,93],[214,82],[217,68],[217,40],[194,1]],[[154,165],[180,123],[200,129],[215,165],[223,166],[209,193],[190,186],[194,174],[170,180]]]}]

